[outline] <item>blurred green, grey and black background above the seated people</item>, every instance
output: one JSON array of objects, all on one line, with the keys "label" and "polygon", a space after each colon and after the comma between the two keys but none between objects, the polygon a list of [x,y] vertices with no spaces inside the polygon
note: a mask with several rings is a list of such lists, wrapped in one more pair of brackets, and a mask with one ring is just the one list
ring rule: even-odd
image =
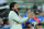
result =
[{"label": "blurred green, grey and black background above the seated people", "polygon": [[18,3],[21,15],[25,13],[24,11],[26,9],[31,9],[33,11],[34,5],[36,6],[35,9],[44,11],[44,0],[0,0],[0,17],[7,17],[9,13],[9,4],[11,2]]}]

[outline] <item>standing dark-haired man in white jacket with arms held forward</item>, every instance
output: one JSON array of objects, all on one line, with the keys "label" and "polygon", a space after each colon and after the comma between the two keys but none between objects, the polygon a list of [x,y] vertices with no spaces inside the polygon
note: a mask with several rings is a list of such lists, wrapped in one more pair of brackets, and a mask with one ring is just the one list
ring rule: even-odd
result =
[{"label": "standing dark-haired man in white jacket with arms held forward", "polygon": [[10,29],[22,29],[21,24],[30,18],[30,15],[26,17],[22,18],[19,15],[18,12],[18,4],[16,2],[12,2],[10,4],[10,13],[9,13],[9,23],[10,23]]}]

